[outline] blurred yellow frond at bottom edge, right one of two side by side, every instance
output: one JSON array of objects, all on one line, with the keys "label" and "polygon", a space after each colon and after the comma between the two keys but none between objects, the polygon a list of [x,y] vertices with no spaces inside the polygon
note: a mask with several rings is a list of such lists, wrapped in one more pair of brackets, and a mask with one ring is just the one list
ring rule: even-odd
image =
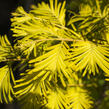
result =
[{"label": "blurred yellow frond at bottom edge, right one of two side by side", "polygon": [[90,109],[93,101],[88,95],[88,91],[81,87],[68,88],[67,97],[70,101],[70,109]]}]

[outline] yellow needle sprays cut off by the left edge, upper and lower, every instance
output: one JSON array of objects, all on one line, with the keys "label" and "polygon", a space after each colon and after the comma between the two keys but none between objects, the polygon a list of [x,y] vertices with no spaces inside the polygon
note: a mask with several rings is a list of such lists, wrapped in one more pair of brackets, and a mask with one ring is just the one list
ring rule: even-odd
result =
[{"label": "yellow needle sprays cut off by the left edge, upper and lower", "polygon": [[12,102],[14,91],[11,80],[15,83],[11,63],[8,63],[10,58],[15,57],[13,48],[5,35],[0,36],[0,62],[6,62],[7,65],[0,66],[0,102]]}]

